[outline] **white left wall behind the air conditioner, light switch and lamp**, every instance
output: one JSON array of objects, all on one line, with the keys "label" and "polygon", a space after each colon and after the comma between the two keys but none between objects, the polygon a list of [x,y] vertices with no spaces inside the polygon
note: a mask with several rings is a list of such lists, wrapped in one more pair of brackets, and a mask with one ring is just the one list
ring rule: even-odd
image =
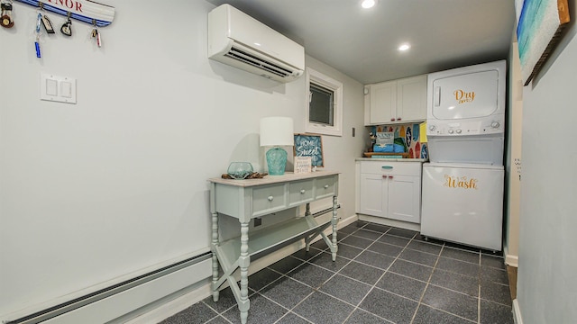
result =
[{"label": "white left wall behind the air conditioner, light switch and lamp", "polygon": [[[116,17],[100,49],[74,21],[72,38],[42,36],[36,58],[36,10],[21,3],[0,31],[0,320],[207,251],[206,178],[232,161],[262,170],[261,117],[305,130],[304,77],[279,84],[206,58],[212,4],[107,4]],[[49,15],[60,28],[64,17]],[[307,66],[344,85],[343,137],[323,144],[349,217],[362,85],[314,58]],[[77,78],[78,104],[41,101],[41,73]]]}]

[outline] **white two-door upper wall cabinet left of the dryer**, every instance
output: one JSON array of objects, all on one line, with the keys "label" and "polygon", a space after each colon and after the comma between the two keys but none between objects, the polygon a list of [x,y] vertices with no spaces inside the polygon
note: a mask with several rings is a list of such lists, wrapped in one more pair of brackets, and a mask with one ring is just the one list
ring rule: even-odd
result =
[{"label": "white two-door upper wall cabinet left of the dryer", "polygon": [[365,125],[411,121],[426,121],[426,75],[365,85]]}]

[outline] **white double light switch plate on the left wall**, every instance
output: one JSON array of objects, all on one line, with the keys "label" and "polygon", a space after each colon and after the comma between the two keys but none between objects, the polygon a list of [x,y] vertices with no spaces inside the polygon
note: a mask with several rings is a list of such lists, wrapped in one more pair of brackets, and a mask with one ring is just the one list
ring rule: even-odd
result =
[{"label": "white double light switch plate on the left wall", "polygon": [[76,79],[69,76],[41,74],[40,99],[59,103],[76,103]]}]

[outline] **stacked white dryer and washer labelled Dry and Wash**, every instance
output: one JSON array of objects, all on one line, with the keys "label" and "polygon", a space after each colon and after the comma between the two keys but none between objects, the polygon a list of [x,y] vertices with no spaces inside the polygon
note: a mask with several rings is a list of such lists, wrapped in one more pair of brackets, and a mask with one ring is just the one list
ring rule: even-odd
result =
[{"label": "stacked white dryer and washer labelled Dry and Wash", "polygon": [[501,250],[506,61],[427,77],[421,234]]}]

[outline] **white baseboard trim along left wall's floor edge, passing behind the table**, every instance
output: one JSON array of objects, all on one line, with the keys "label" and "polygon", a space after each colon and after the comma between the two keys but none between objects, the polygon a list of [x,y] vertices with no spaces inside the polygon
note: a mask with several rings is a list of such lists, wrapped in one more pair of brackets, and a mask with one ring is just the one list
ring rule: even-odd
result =
[{"label": "white baseboard trim along left wall's floor edge, passing behind the table", "polygon": [[[337,225],[337,229],[342,229],[343,227],[352,224],[354,221],[358,220],[358,216],[353,214],[352,216],[347,217],[346,219],[340,219]],[[330,227],[325,230],[325,233],[328,234],[332,232],[333,229]],[[316,238],[316,240],[322,238]],[[279,261],[284,257],[289,257],[291,254],[297,252],[299,249],[305,247],[305,243],[303,240],[295,242],[287,247],[282,247],[278,251],[271,253],[265,257],[261,257],[254,262],[251,262],[251,266],[249,267],[249,275],[257,273],[264,269],[267,266],[272,265],[273,263]],[[223,285],[225,286],[225,284]],[[124,324],[149,324],[149,323],[159,323],[162,320],[168,319],[170,316],[179,313],[180,311],[186,310],[188,307],[192,306],[193,304],[204,300],[206,297],[211,295],[211,287],[210,284],[205,284],[198,289],[186,293],[178,298],[171,300],[170,302],[166,302],[161,304],[159,307],[147,311],[146,313],[140,315],[133,320],[129,320],[124,322]]]}]

